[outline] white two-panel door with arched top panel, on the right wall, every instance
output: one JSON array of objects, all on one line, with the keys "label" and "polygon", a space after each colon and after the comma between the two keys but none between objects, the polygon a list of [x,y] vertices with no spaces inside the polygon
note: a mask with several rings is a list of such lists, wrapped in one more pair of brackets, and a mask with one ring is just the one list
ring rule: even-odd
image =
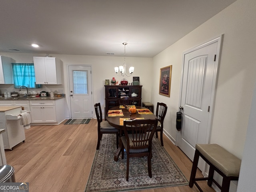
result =
[{"label": "white two-panel door with arched top panel, on the right wall", "polygon": [[[214,101],[214,90],[220,38],[189,50],[183,55],[183,77],[180,94],[182,128],[178,134],[179,148],[191,159],[195,146],[208,143]],[[198,168],[204,172],[204,162]]]}]

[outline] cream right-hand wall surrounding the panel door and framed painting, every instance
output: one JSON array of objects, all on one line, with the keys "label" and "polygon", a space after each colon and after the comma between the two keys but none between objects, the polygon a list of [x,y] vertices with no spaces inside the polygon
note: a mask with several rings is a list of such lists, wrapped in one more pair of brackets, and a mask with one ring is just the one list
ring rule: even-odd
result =
[{"label": "cream right-hand wall surrounding the panel door and framed painting", "polygon": [[[176,141],[182,53],[224,34],[220,58],[211,143],[242,158],[252,92],[256,79],[256,1],[238,0],[153,58],[154,71],[172,65],[170,98],[152,92],[152,100],[168,105],[165,129]],[[158,89],[158,77],[153,90]]]}]

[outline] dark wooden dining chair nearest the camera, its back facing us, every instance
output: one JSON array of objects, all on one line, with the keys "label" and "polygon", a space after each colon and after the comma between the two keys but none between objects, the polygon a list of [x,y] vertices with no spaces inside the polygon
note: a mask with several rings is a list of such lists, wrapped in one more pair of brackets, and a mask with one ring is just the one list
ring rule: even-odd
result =
[{"label": "dark wooden dining chair nearest the camera, its back facing us", "polygon": [[[126,180],[129,178],[129,159],[131,157],[148,157],[148,176],[152,178],[151,159],[152,159],[152,138],[156,131],[157,119],[149,120],[124,120],[124,136],[122,140],[122,159],[124,149],[127,154]],[[152,128],[153,127],[153,128]],[[141,165],[134,165],[141,166]]]}]

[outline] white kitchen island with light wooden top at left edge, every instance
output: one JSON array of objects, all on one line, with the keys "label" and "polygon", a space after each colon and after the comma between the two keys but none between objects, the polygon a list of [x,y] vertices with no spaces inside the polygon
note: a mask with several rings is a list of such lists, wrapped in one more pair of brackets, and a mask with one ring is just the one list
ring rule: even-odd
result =
[{"label": "white kitchen island with light wooden top at left edge", "polygon": [[2,134],[4,149],[10,149],[25,141],[24,127],[21,124],[21,106],[0,106],[0,128],[6,132]]}]

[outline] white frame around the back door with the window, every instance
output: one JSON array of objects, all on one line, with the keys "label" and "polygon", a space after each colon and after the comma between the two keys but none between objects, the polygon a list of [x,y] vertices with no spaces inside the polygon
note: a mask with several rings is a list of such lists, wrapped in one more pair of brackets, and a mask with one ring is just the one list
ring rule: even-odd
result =
[{"label": "white frame around the back door with the window", "polygon": [[[92,65],[90,64],[67,64],[67,68],[66,68],[66,74],[67,74],[67,77],[68,77],[68,80],[67,80],[67,89],[68,89],[68,95],[66,95],[66,98],[67,98],[67,102],[68,102],[68,116],[69,118],[71,118],[71,100],[70,100],[70,84],[69,84],[69,66],[82,66],[82,67],[91,67],[91,82],[92,82]],[[92,82],[93,84],[93,82]],[[94,96],[93,96],[93,86],[91,84],[91,87],[92,87],[92,118],[94,118]]]}]

